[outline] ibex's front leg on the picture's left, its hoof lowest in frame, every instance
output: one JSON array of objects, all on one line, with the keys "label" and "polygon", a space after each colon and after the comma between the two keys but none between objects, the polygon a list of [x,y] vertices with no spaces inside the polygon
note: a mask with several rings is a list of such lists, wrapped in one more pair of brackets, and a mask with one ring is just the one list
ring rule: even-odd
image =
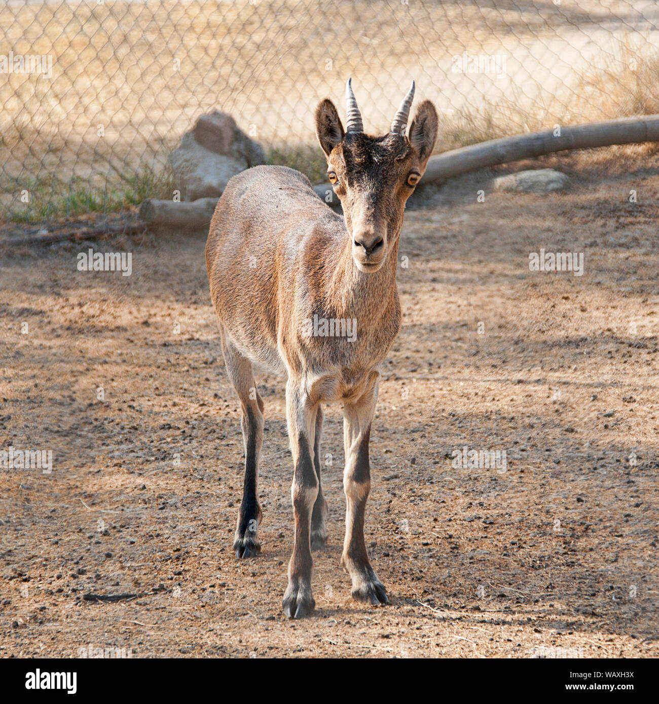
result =
[{"label": "ibex's front leg on the picture's left, its hoof lowest in frame", "polygon": [[311,523],[318,496],[318,477],[314,468],[316,406],[309,401],[299,379],[286,384],[286,419],[295,470],[290,494],[295,513],[295,545],[288,563],[288,586],[283,609],[289,618],[311,613],[316,602],[312,594]]}]

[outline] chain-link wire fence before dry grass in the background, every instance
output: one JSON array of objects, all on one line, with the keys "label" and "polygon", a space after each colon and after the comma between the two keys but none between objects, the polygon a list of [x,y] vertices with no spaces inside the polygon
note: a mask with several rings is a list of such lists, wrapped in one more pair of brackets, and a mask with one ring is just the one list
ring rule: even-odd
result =
[{"label": "chain-link wire fence before dry grass in the background", "polygon": [[0,216],[169,197],[168,153],[214,108],[319,180],[314,108],[348,76],[367,131],[414,78],[438,151],[657,113],[658,47],[655,0],[9,0]]}]

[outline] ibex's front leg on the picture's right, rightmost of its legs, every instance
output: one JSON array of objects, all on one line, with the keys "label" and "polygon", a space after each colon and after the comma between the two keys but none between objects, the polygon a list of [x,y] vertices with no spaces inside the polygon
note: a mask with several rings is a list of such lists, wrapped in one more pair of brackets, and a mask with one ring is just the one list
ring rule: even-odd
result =
[{"label": "ibex's front leg on the picture's right, rightmost of its legs", "polygon": [[343,407],[346,511],[341,564],[352,579],[352,598],[374,605],[389,603],[385,586],[371,567],[364,543],[364,512],[371,490],[369,439],[377,396],[376,375],[371,388],[359,401],[346,402]]}]

